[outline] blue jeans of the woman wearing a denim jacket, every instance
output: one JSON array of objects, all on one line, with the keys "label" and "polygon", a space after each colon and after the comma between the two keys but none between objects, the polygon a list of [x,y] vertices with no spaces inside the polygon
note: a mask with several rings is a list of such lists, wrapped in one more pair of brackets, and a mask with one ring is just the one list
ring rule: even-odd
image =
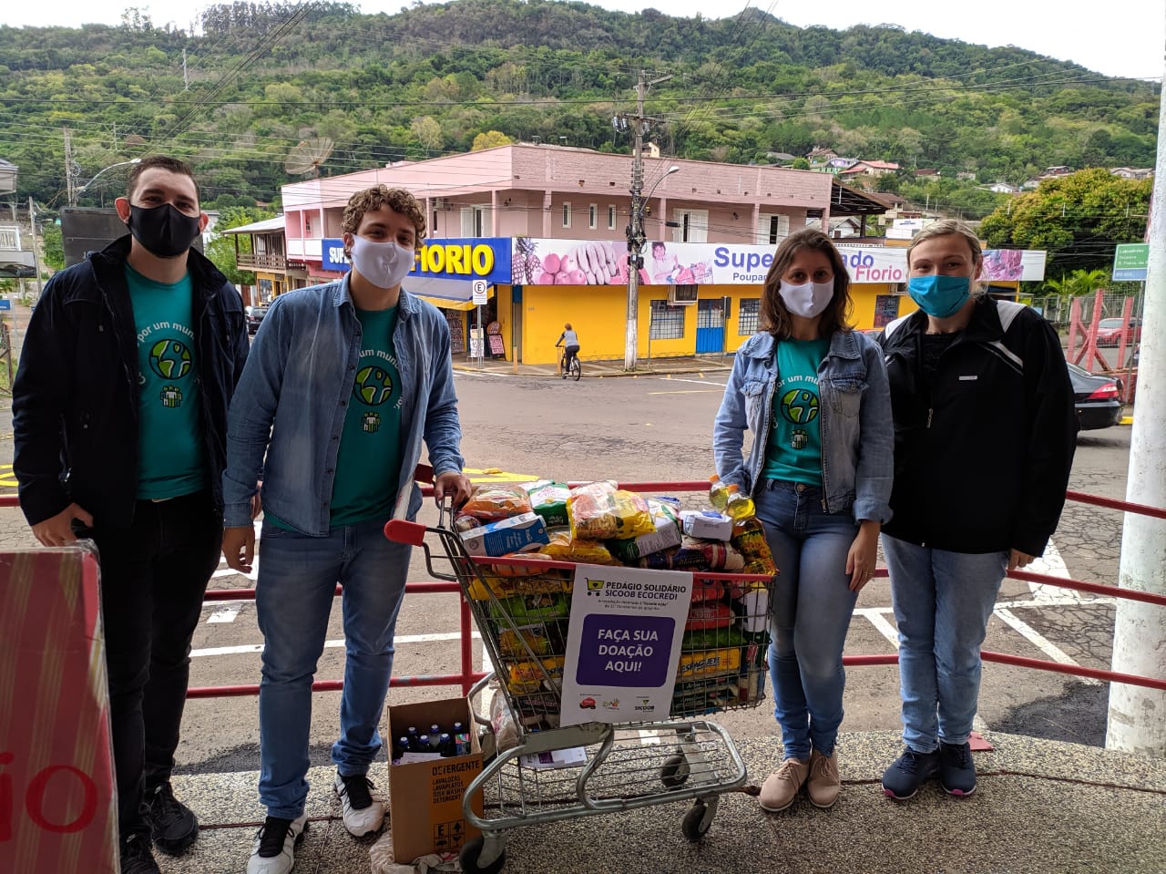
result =
[{"label": "blue jeans of the woman wearing a denim jacket", "polygon": [[858,597],[845,572],[858,525],[849,511],[826,512],[822,490],[809,485],[763,480],[753,501],[781,572],[772,593],[770,676],[785,756],[806,760],[812,749],[829,756],[842,725],[842,648]]}]

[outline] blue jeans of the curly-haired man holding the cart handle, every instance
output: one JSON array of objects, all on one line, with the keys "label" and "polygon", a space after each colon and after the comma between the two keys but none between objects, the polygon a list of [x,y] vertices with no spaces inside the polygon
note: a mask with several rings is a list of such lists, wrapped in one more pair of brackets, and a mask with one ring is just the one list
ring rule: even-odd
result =
[{"label": "blue jeans of the curly-haired man holding the cart handle", "polygon": [[344,693],[332,761],[366,774],[393,672],[393,630],[405,595],[409,547],[385,538],[384,522],[309,537],[264,523],[255,607],[264,632],[259,686],[259,799],[268,816],[295,819],[308,797],[311,683],[324,651],[336,583],[344,587]]}]

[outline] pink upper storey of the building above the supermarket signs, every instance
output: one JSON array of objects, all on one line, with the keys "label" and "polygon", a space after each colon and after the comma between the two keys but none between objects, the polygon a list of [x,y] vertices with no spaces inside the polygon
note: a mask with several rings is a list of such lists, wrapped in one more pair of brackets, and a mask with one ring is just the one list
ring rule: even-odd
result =
[{"label": "pink upper storey of the building above the supermarket signs", "polygon": [[[673,166],[680,172],[665,177]],[[517,144],[295,182],[283,186],[287,256],[308,265],[304,280],[333,277],[322,270],[322,240],[340,236],[347,198],[379,183],[424,203],[429,237],[621,240],[631,175],[630,155]],[[831,215],[886,209],[821,173],[668,158],[644,159],[644,191],[647,238],[679,243],[768,245]]]}]

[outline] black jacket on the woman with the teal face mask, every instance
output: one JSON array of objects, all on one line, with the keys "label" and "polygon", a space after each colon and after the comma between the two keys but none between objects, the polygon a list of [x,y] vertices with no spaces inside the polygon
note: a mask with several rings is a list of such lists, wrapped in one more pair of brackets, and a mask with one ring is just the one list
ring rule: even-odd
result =
[{"label": "black jacket on the woman with the teal face mask", "polygon": [[1056,334],[1028,307],[981,299],[928,392],[926,329],[915,312],[878,338],[894,415],[894,517],[883,531],[949,552],[1040,555],[1065,506],[1077,434]]}]

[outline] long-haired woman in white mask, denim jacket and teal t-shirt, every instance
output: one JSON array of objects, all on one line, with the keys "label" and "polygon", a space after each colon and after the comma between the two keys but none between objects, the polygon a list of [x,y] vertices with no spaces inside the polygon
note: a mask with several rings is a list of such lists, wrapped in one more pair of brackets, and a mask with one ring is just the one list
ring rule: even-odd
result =
[{"label": "long-haired woman in white mask, denim jacket and teal t-shirt", "polygon": [[802,784],[819,807],[837,800],[842,646],[891,518],[886,368],[847,323],[850,309],[829,238],[812,229],[787,237],[765,278],[765,330],[737,351],[714,426],[717,473],[753,497],[781,572],[768,660],[785,761],[761,786],[767,811],[793,804]]}]

